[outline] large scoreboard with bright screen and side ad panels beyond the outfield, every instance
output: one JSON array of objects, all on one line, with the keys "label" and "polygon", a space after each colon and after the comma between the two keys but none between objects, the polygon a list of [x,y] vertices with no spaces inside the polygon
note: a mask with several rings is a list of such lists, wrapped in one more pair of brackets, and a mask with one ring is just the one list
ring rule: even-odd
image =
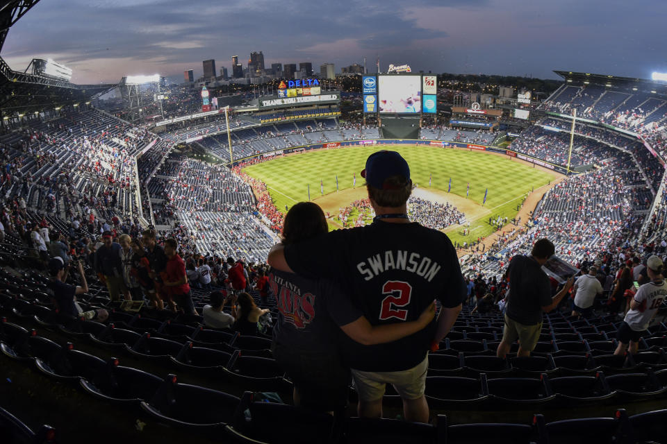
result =
[{"label": "large scoreboard with bright screen and side ad panels beyond the outfield", "polygon": [[438,78],[422,74],[363,76],[363,112],[366,114],[435,114]]}]

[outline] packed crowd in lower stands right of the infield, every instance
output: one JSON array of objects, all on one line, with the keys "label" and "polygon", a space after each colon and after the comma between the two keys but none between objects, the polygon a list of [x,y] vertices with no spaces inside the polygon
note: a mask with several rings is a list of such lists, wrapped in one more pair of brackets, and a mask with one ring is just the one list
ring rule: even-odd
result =
[{"label": "packed crowd in lower stands right of the infield", "polygon": [[629,155],[619,153],[600,169],[568,176],[547,192],[525,225],[517,225],[516,235],[498,236],[484,253],[471,253],[464,259],[466,267],[499,277],[513,255],[525,253],[541,237],[551,239],[557,255],[571,264],[600,259],[609,248],[638,239],[646,194],[641,187],[628,189],[615,174],[636,169],[633,164]]}]

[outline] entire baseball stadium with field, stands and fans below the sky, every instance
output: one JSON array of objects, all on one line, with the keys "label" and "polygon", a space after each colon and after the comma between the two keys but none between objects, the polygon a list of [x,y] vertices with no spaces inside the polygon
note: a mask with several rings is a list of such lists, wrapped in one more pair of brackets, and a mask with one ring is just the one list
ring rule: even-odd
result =
[{"label": "entire baseball stadium with field, stands and fans below the sky", "polygon": [[0,58],[0,443],[667,443],[667,74],[263,57]]}]

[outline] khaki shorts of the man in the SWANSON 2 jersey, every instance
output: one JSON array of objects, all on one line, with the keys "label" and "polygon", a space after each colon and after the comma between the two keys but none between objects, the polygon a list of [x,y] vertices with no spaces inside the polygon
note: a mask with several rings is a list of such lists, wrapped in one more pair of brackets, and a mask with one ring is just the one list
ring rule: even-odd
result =
[{"label": "khaki shorts of the man in the SWANSON 2 jersey", "polygon": [[352,369],[354,387],[360,401],[371,402],[381,400],[386,384],[392,384],[401,399],[417,400],[424,395],[426,389],[426,371],[429,368],[429,356],[409,368],[397,372],[364,372]]}]

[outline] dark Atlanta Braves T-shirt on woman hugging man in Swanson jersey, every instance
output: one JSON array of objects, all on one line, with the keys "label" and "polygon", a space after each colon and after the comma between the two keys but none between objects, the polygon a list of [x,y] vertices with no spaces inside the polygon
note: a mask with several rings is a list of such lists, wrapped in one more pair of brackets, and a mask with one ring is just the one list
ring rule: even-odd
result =
[{"label": "dark Atlanta Braves T-shirt on woman hugging man in Swanson jersey", "polygon": [[338,325],[363,316],[336,282],[272,270],[269,288],[279,310],[273,339],[282,345],[313,352],[338,348]]}]

